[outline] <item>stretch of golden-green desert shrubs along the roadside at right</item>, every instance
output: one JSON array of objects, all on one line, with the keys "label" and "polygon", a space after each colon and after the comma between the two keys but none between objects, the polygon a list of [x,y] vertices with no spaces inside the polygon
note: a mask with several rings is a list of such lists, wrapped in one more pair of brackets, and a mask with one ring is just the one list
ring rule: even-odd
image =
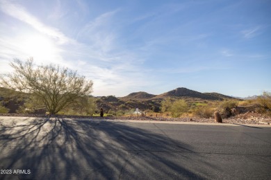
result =
[{"label": "stretch of golden-green desert shrubs along the roadside at right", "polygon": [[262,96],[254,100],[195,100],[192,102],[182,100],[182,103],[178,103],[179,101],[170,98],[164,100],[161,103],[161,114],[158,116],[213,118],[214,112],[219,111],[223,118],[229,118],[242,113],[239,110],[240,107],[248,109],[247,111],[271,116],[271,93],[268,92],[263,92]]}]

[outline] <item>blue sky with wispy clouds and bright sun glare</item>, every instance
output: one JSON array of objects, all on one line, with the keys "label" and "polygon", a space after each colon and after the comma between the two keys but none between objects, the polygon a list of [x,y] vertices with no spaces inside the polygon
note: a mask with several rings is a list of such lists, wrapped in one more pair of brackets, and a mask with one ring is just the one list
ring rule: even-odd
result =
[{"label": "blue sky with wispy clouds and bright sun glare", "polygon": [[271,1],[0,0],[0,73],[60,64],[94,96],[271,91]]}]

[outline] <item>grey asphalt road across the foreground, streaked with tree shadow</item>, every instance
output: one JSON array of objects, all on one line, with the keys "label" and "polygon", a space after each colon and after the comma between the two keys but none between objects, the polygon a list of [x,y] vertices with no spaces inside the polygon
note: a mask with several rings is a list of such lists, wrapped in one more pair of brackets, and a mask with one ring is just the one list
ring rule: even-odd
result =
[{"label": "grey asphalt road across the foreground, streaked with tree shadow", "polygon": [[0,179],[271,179],[271,127],[0,117]]}]

